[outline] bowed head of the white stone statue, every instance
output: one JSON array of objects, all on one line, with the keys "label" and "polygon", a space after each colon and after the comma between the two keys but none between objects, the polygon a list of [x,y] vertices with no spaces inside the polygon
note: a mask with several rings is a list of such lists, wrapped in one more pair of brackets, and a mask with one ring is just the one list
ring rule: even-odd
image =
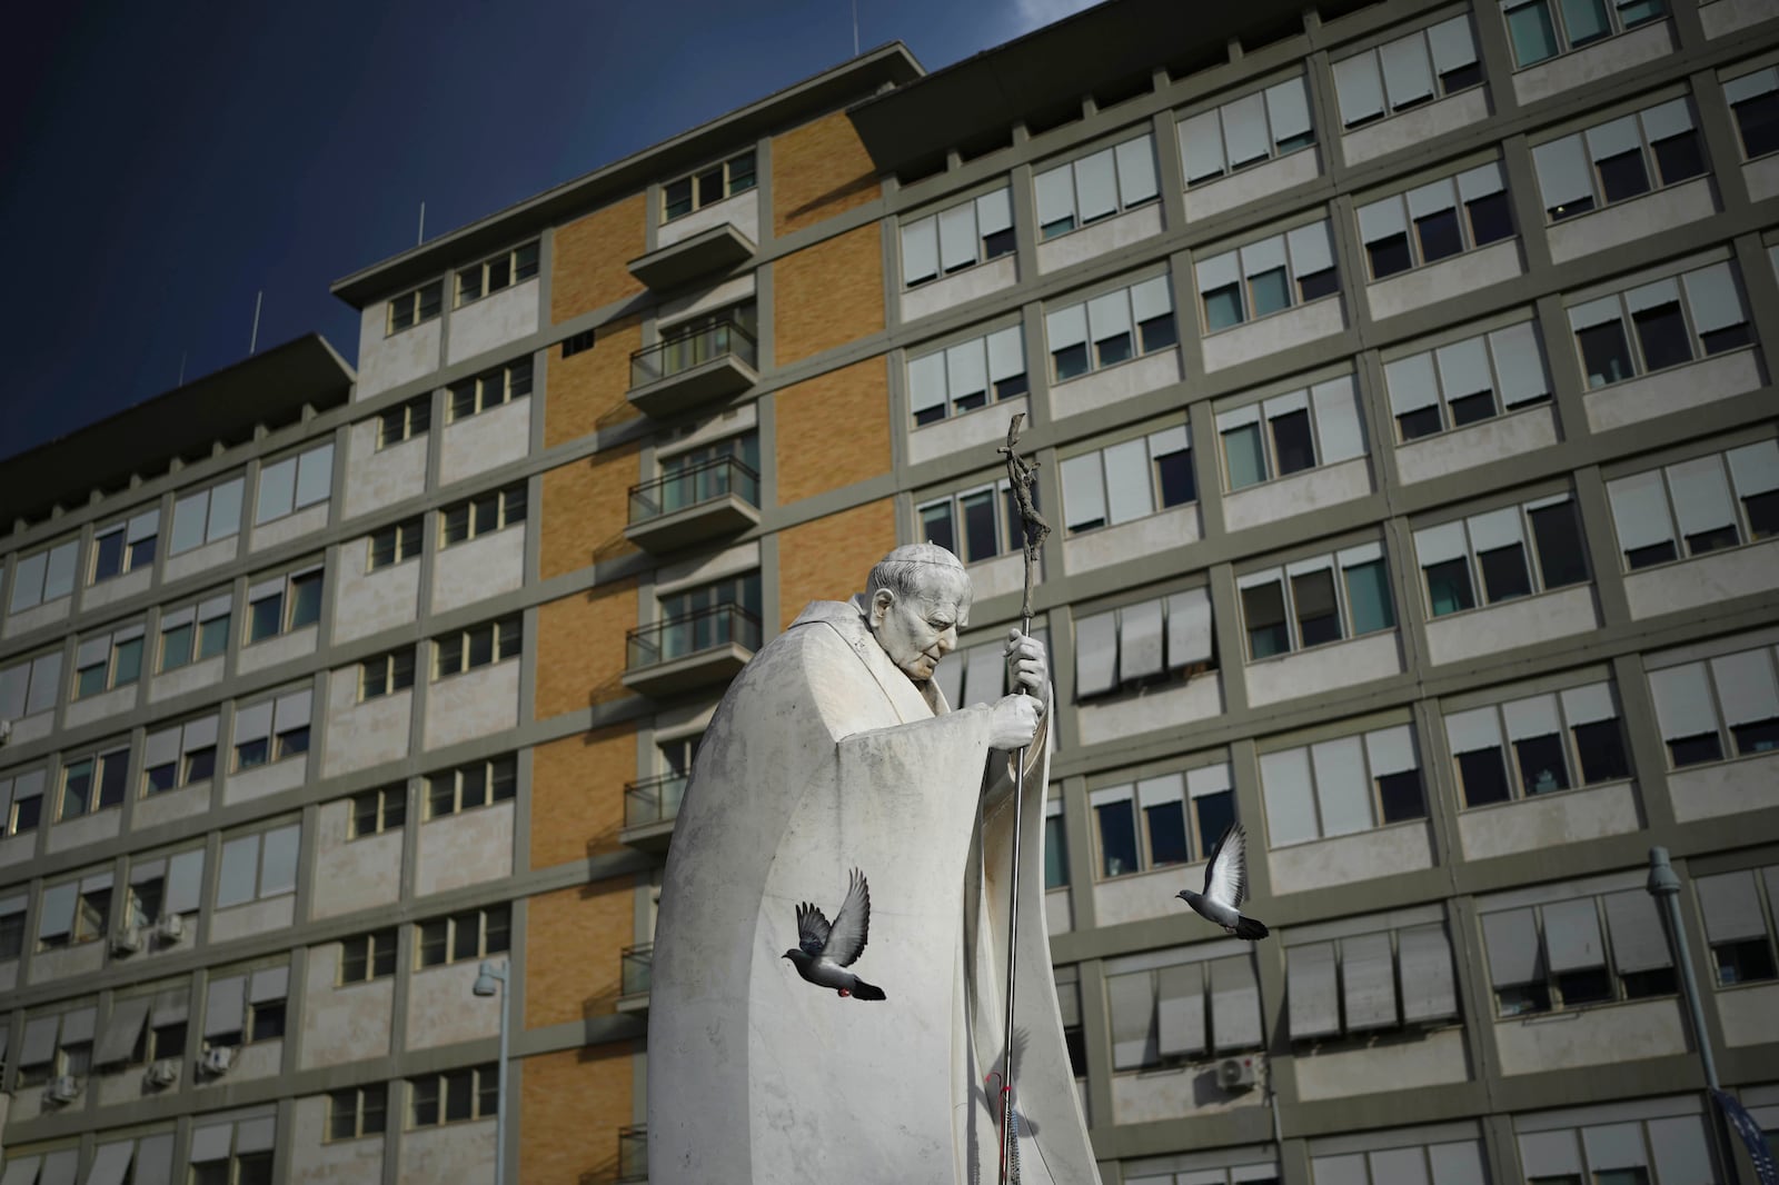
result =
[{"label": "bowed head of the white stone statue", "polygon": [[911,543],[872,568],[865,619],[890,660],[925,683],[939,658],[957,649],[971,594],[970,575],[955,555],[932,543]]}]

